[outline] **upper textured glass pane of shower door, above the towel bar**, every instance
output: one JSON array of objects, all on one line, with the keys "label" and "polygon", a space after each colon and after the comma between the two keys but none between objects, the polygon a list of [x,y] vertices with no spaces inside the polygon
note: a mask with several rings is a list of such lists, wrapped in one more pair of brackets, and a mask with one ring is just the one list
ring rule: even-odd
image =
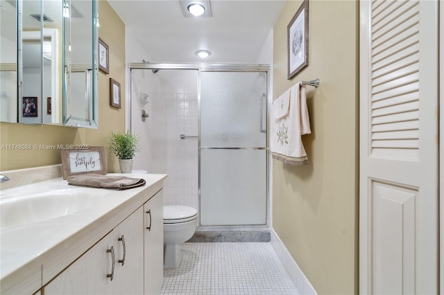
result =
[{"label": "upper textured glass pane of shower door, above the towel bar", "polygon": [[203,72],[200,91],[201,146],[266,146],[266,73]]}]

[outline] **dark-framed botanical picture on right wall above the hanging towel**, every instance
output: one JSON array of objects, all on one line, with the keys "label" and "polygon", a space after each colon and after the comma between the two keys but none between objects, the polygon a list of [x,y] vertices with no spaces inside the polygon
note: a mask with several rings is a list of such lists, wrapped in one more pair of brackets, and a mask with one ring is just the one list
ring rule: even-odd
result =
[{"label": "dark-framed botanical picture on right wall above the hanging towel", "polygon": [[300,5],[287,26],[288,80],[308,66],[308,0]]}]

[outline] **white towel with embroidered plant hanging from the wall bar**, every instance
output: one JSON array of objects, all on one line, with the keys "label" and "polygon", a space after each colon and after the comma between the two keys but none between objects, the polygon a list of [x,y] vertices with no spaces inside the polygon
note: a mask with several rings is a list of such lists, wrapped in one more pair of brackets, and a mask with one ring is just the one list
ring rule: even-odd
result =
[{"label": "white towel with embroidered plant hanging from the wall bar", "polygon": [[273,101],[271,107],[271,156],[286,164],[308,164],[301,136],[310,134],[305,85],[300,82]]}]

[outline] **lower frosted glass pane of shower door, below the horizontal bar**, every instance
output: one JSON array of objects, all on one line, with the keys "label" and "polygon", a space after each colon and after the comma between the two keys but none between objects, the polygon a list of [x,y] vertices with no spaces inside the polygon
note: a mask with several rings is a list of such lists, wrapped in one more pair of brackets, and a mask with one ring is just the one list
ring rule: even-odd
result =
[{"label": "lower frosted glass pane of shower door, below the horizontal bar", "polygon": [[200,159],[200,224],[266,224],[266,150],[201,150]]}]

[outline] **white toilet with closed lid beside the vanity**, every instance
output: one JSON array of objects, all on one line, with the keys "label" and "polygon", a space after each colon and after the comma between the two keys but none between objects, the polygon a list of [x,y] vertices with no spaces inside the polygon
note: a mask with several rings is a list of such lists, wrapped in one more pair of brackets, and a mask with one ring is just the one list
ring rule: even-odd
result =
[{"label": "white toilet with closed lid beside the vanity", "polygon": [[179,267],[180,244],[196,231],[197,210],[189,206],[164,206],[164,268]]}]

